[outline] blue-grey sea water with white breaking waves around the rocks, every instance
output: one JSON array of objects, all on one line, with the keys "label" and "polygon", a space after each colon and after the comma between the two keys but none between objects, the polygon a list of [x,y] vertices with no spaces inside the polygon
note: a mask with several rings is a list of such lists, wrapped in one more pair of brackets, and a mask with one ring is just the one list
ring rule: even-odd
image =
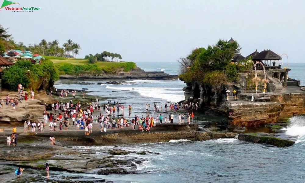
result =
[{"label": "blue-grey sea water with white breaking waves around the rocks", "polygon": [[[161,71],[178,74],[178,63],[137,63],[147,71]],[[290,63],[289,77],[298,78],[305,83],[304,63]],[[91,82],[91,81],[88,81]],[[94,81],[101,82],[101,81]],[[184,99],[182,88],[185,84],[179,80],[129,80],[123,85],[107,84],[58,84],[57,88],[89,88],[88,95],[100,95],[110,100],[120,99],[133,106],[131,117],[145,115],[145,104],[158,102],[178,102]],[[156,113],[151,111],[156,116]],[[175,114],[177,117],[177,114]],[[128,113],[125,112],[128,118]],[[176,119],[176,118],[175,118]],[[204,126],[217,117],[195,113],[194,123]],[[72,147],[87,148],[95,151],[119,148],[131,151],[159,152],[159,155],[122,155],[137,156],[145,161],[137,165],[137,174],[107,176],[84,174],[104,178],[118,183],[125,182],[230,182],[230,183],[298,183],[305,182],[305,117],[290,118],[290,126],[282,129],[279,135],[296,140],[296,144],[287,148],[271,145],[242,142],[237,139],[217,139],[204,142],[192,142],[185,139],[161,143],[146,143],[118,146]],[[67,173],[73,175],[71,173]]]}]

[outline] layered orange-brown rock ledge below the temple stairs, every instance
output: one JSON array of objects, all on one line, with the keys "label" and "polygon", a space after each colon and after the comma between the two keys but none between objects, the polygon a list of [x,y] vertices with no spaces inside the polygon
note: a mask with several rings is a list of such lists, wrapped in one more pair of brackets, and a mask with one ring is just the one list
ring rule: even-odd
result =
[{"label": "layered orange-brown rock ledge below the temple stairs", "polygon": [[219,108],[233,126],[259,126],[305,114],[305,93],[271,95],[270,102],[225,102]]}]

